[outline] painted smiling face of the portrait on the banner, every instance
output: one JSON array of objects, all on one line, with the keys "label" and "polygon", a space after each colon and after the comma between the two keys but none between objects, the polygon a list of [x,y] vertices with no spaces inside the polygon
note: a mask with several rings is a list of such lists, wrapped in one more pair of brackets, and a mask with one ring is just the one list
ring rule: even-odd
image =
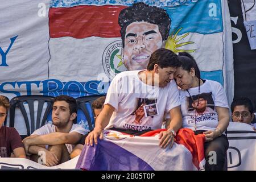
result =
[{"label": "painted smiling face of the portrait on the banner", "polygon": [[130,71],[146,69],[151,54],[162,44],[158,25],[133,22],[126,28],[123,63]]}]

